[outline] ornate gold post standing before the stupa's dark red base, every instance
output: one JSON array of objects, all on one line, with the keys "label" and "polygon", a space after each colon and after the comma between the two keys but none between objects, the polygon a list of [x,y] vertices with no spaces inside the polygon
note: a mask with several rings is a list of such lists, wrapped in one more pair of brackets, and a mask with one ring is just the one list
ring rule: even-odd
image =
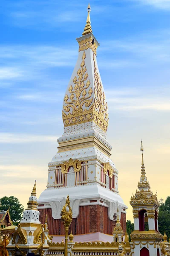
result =
[{"label": "ornate gold post standing before the stupa's dark red base", "polygon": [[64,256],[67,256],[68,253],[68,235],[69,235],[69,226],[72,222],[72,208],[70,207],[69,195],[67,195],[66,204],[63,206],[61,211],[61,219],[65,227],[65,247],[64,247]]}]

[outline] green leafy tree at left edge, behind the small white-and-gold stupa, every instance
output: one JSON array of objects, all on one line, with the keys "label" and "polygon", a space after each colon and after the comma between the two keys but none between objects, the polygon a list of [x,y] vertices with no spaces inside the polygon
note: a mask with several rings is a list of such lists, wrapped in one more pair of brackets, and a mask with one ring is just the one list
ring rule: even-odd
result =
[{"label": "green leafy tree at left edge, behind the small white-and-gold stupa", "polygon": [[0,211],[6,211],[8,209],[13,224],[17,224],[21,220],[24,211],[23,205],[14,196],[4,196],[0,198]]}]

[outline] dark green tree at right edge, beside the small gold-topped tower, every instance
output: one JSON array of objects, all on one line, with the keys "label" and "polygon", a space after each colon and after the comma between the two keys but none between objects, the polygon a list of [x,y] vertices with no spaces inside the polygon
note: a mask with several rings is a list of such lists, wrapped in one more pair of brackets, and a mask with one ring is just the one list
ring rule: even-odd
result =
[{"label": "dark green tree at right edge, beside the small gold-topped tower", "polygon": [[170,238],[170,196],[167,197],[165,202],[160,201],[159,215],[158,215],[158,229],[159,232],[164,235],[164,231],[167,237]]}]

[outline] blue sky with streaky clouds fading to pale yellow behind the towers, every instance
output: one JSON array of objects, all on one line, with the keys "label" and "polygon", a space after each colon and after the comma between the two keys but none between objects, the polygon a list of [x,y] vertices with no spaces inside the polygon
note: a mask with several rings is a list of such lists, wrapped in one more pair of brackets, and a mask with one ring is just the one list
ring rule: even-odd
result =
[{"label": "blue sky with streaky clouds fading to pale yellow behind the towers", "polygon": [[[87,5],[68,0],[0,3],[0,197],[17,196],[25,206],[35,179],[38,195],[45,189],[47,164],[63,133],[62,101],[78,57],[75,38],[83,32]],[[90,5],[120,193],[129,205],[140,177],[142,138],[151,188],[165,199],[170,0],[91,0]],[[127,218],[132,218],[131,208]]]}]

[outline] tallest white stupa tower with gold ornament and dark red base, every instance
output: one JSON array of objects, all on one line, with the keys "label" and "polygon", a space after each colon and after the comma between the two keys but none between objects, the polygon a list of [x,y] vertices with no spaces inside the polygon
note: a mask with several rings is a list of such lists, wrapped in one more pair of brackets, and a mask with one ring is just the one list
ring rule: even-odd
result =
[{"label": "tallest white stupa tower with gold ornament and dark red base", "polygon": [[[40,221],[48,214],[49,233],[64,234],[61,209],[69,194],[72,233],[112,234],[117,208],[126,231],[126,209],[118,194],[118,170],[110,159],[106,139],[107,101],[97,64],[98,41],[92,34],[90,6],[80,38],[78,60],[63,100],[64,133],[49,162],[47,189],[38,199]],[[96,240],[98,238],[96,237]]]}]

